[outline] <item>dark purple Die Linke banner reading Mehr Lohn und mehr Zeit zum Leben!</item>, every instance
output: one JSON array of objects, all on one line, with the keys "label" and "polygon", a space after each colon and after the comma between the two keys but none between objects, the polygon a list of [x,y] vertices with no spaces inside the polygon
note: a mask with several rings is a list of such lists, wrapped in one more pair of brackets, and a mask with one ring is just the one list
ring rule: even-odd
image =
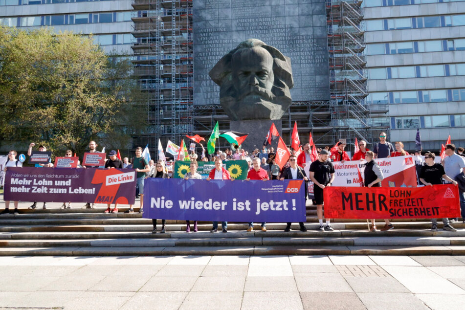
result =
[{"label": "dark purple Die Linke banner reading Mehr Lohn und mehr Zeit zum Leben!", "polygon": [[133,204],[135,182],[134,170],[13,167],[6,172],[3,195],[18,201]]}]

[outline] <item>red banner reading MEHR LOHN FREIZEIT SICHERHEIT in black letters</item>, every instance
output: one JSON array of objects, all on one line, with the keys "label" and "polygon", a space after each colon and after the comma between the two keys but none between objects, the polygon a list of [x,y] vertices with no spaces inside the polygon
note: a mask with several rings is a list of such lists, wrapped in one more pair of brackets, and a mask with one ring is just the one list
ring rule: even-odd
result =
[{"label": "red banner reading MEHR LOHN FREIZEIT SICHERHEIT in black letters", "polygon": [[432,219],[460,217],[459,190],[433,187],[340,187],[324,189],[328,219]]}]

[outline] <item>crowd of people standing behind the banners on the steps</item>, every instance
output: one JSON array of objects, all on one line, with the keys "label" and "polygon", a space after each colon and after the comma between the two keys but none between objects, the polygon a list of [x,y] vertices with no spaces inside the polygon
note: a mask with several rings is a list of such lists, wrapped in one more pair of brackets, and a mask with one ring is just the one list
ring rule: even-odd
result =
[{"label": "crowd of people standing behind the banners on the steps", "polygon": [[[28,149],[28,155],[31,155],[32,149],[35,146],[34,143],[31,143]],[[89,153],[97,152],[97,144],[95,141],[89,142]],[[223,162],[228,160],[246,160],[249,165],[249,170],[247,173],[246,180],[284,180],[284,179],[303,179],[305,182],[313,182],[313,204],[316,205],[317,218],[319,222],[318,231],[333,231],[333,228],[330,224],[330,219],[325,219],[326,222],[323,223],[323,206],[324,206],[324,189],[328,186],[332,186],[334,180],[334,167],[333,162],[340,161],[343,163],[348,160],[366,160],[367,164],[364,170],[364,186],[366,187],[378,187],[381,186],[381,181],[383,180],[383,172],[380,169],[379,165],[376,163],[376,158],[386,158],[394,156],[405,156],[409,155],[403,148],[402,142],[395,142],[394,146],[387,141],[386,133],[379,134],[379,142],[373,145],[373,150],[367,148],[366,141],[359,141],[358,147],[359,150],[350,158],[347,152],[344,151],[346,144],[344,142],[338,142],[336,145],[330,149],[330,147],[325,147],[323,149],[316,149],[317,158],[311,154],[310,144],[306,143],[302,145],[302,150],[298,154],[294,150],[289,149],[289,159],[288,162],[280,167],[276,164],[276,154],[273,147],[263,146],[261,150],[255,149],[251,153],[247,151],[236,149],[235,152],[232,152],[230,149],[225,149],[223,151],[218,150],[214,155],[205,155],[205,151],[202,147],[202,154],[200,156],[201,161],[214,161],[215,168],[213,168],[208,177],[207,181],[212,179],[231,179],[231,176],[223,167]],[[40,152],[45,152],[46,147],[44,145],[39,146]],[[159,178],[170,178],[173,174],[173,160],[165,162],[164,160],[149,160],[142,156],[142,148],[138,147],[135,150],[135,156],[131,159],[128,157],[123,158],[123,160],[117,157],[116,151],[109,152],[109,158],[105,162],[105,169],[134,169],[137,173],[136,195],[140,197],[139,213],[143,213],[143,199],[144,199],[144,181],[148,177],[159,177]],[[435,162],[435,154],[433,152],[424,153],[424,165],[421,167],[421,172],[419,174],[419,179],[422,184],[425,186],[433,186],[435,184],[453,183],[457,185],[457,178],[461,173],[463,173],[465,168],[465,154],[464,148],[458,148],[456,153],[456,147],[454,144],[447,144],[445,146],[445,158],[441,163]],[[416,150],[415,155],[421,155],[420,150]],[[17,152],[11,150],[8,153],[8,161],[5,165],[4,170],[8,167],[22,167],[22,162],[17,158]],[[65,152],[66,157],[71,157],[72,152],[67,150]],[[185,174],[184,178],[187,179],[201,179],[202,176],[197,173],[198,169],[198,158],[199,156],[192,152],[190,155],[190,171]],[[312,160],[313,159],[313,160]],[[36,167],[53,167],[51,162],[46,164],[36,164]],[[308,173],[305,172],[305,168],[309,166]],[[86,168],[95,168],[98,166],[89,166],[89,165],[78,165],[78,167]],[[459,179],[460,181],[460,179]],[[462,190],[463,187],[459,187],[460,193],[460,207],[462,212],[462,218],[465,216],[465,193]],[[307,200],[308,186],[305,186],[305,200]],[[10,201],[5,201],[5,210],[0,214],[18,214],[18,201],[13,201],[14,211],[9,210]],[[35,209],[37,207],[37,202],[34,201],[29,209]],[[95,205],[91,202],[87,202],[83,208],[94,208]],[[62,209],[71,208],[70,202],[63,202]],[[43,209],[46,209],[46,202],[43,202]],[[111,208],[111,204],[107,205],[105,213],[118,213],[117,204],[114,204]],[[133,205],[129,206],[129,210],[126,213],[133,213]],[[157,232],[156,228],[156,219],[153,219],[153,233]],[[394,225],[389,219],[385,219],[384,226],[380,229],[381,231],[387,231],[394,228]],[[436,231],[437,220],[432,219],[431,230]],[[450,224],[451,221],[458,221],[458,219],[449,220],[447,218],[443,219],[443,229],[448,231],[456,231],[455,228]],[[371,231],[376,231],[375,220],[371,220]],[[465,220],[464,220],[465,222]],[[162,227],[160,232],[165,232],[166,220],[161,220]],[[186,232],[190,232],[190,221],[186,221],[187,228]],[[213,222],[211,232],[218,231],[218,221]],[[254,222],[248,223],[249,227],[248,232],[254,230]],[[300,230],[307,231],[307,228],[304,225],[304,222],[300,222]],[[222,232],[227,232],[227,221],[221,222]],[[261,230],[266,231],[266,222],[261,223]],[[285,228],[285,231],[291,230],[291,223],[288,222]],[[193,231],[198,231],[197,221],[194,221]]]}]

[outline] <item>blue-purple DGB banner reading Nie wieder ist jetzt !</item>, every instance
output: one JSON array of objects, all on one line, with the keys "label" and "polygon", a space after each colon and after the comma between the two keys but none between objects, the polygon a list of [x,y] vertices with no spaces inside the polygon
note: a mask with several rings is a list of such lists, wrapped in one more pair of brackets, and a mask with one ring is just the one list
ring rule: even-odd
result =
[{"label": "blue-purple DGB banner reading Nie wieder ist jetzt !", "polygon": [[148,178],[146,219],[198,221],[306,221],[302,180]]}]

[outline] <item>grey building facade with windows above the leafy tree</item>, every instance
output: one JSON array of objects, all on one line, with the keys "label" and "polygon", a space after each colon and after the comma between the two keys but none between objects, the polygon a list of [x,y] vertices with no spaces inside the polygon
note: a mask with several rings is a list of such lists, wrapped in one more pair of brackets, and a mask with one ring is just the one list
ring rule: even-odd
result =
[{"label": "grey building facade with windows above the leafy tree", "polygon": [[131,0],[0,0],[0,23],[93,34],[105,51],[129,55],[132,10]]}]

